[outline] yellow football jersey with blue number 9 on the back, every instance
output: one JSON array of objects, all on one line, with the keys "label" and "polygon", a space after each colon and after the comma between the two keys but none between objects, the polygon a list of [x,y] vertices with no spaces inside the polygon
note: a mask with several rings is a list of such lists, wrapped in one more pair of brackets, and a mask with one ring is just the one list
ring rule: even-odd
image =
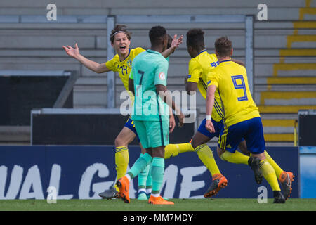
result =
[{"label": "yellow football jersey with blue number 9 on the back", "polygon": [[246,68],[232,62],[221,61],[208,74],[207,86],[217,86],[217,91],[223,105],[225,124],[229,127],[238,122],[260,117],[248,85]]}]

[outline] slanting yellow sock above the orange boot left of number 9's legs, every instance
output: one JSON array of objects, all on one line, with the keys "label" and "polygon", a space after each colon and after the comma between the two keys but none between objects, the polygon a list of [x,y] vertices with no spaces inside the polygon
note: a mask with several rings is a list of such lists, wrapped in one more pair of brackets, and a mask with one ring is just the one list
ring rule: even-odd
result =
[{"label": "slanting yellow sock above the orange boot left of number 9's legs", "polygon": [[212,176],[214,176],[214,174],[220,174],[213,152],[209,146],[206,144],[197,146],[197,148],[195,148],[195,152],[199,155],[199,159],[203,162],[207,169],[209,169]]}]

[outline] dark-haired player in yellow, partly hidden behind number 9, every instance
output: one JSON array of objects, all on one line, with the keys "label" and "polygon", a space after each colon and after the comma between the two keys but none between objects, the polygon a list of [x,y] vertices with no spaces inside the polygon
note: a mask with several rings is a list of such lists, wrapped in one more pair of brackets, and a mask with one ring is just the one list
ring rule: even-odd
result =
[{"label": "dark-haired player in yellow, partly hidden behind number 9", "polygon": [[[191,56],[191,60],[189,62],[189,75],[185,81],[185,88],[189,94],[196,91],[198,88],[202,96],[206,98],[206,75],[209,71],[213,70],[213,68],[216,68],[218,59],[215,54],[209,54],[206,51],[204,32],[201,29],[191,29],[187,32],[187,52]],[[239,63],[244,65],[242,62]],[[213,158],[211,148],[207,146],[207,142],[213,139],[214,136],[219,136],[220,130],[223,128],[223,112],[221,111],[220,101],[216,102],[214,109],[212,117],[214,124],[216,124],[215,134],[212,134],[205,129],[205,120],[203,120],[199,129],[192,137],[192,145],[190,143],[169,144],[166,146],[165,150],[166,155],[171,155],[172,153],[173,156],[175,155],[175,151],[173,150],[175,146],[179,149],[178,153],[185,153],[187,151],[195,151],[197,153],[199,159],[209,169],[209,172],[213,176],[211,188],[204,194],[204,197],[206,198],[216,195],[221,188],[227,185],[227,179],[220,174],[220,170]],[[248,159],[246,156],[244,156],[244,158],[246,158],[246,160]]]}]

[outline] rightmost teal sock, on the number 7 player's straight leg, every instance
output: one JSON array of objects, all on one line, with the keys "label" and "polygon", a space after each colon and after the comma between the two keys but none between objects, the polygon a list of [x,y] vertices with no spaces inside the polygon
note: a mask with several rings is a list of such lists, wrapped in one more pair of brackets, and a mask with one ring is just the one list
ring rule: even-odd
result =
[{"label": "rightmost teal sock, on the number 7 player's straight leg", "polygon": [[152,195],[159,195],[163,180],[164,158],[154,157],[152,159]]}]

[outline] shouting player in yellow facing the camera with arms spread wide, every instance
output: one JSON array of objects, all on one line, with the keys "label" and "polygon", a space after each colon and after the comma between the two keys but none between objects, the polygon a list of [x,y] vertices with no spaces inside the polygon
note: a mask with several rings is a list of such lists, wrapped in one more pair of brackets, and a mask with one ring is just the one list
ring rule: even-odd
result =
[{"label": "shouting player in yellow facing the camera with arms spread wide", "polygon": [[[162,56],[167,58],[171,53],[182,43],[183,37],[176,39],[173,37],[173,42],[169,49],[166,49]],[[117,53],[114,58],[107,61],[106,63],[97,63],[93,60],[82,56],[79,53],[78,44],[75,47],[72,46],[62,46],[66,53],[77,59],[80,63],[86,66],[86,68],[92,70],[96,73],[114,71],[119,73],[119,77],[124,84],[126,90],[129,90],[129,73],[131,71],[131,64],[133,58],[135,58],[139,53],[145,51],[143,48],[130,49],[131,44],[131,32],[126,30],[125,25],[116,25],[110,35],[111,45],[114,51]],[[133,98],[132,98],[133,101]],[[133,121],[129,119],[124,125],[123,129],[119,132],[119,135],[115,139],[115,165],[117,169],[117,179],[124,176],[129,163],[129,148],[128,145],[137,136],[136,129],[133,125]],[[139,142],[139,139],[138,139]],[[140,145],[140,148],[141,145]],[[142,148],[142,152],[145,150]],[[119,196],[118,188],[111,188],[104,192],[103,198],[116,198]]]}]

